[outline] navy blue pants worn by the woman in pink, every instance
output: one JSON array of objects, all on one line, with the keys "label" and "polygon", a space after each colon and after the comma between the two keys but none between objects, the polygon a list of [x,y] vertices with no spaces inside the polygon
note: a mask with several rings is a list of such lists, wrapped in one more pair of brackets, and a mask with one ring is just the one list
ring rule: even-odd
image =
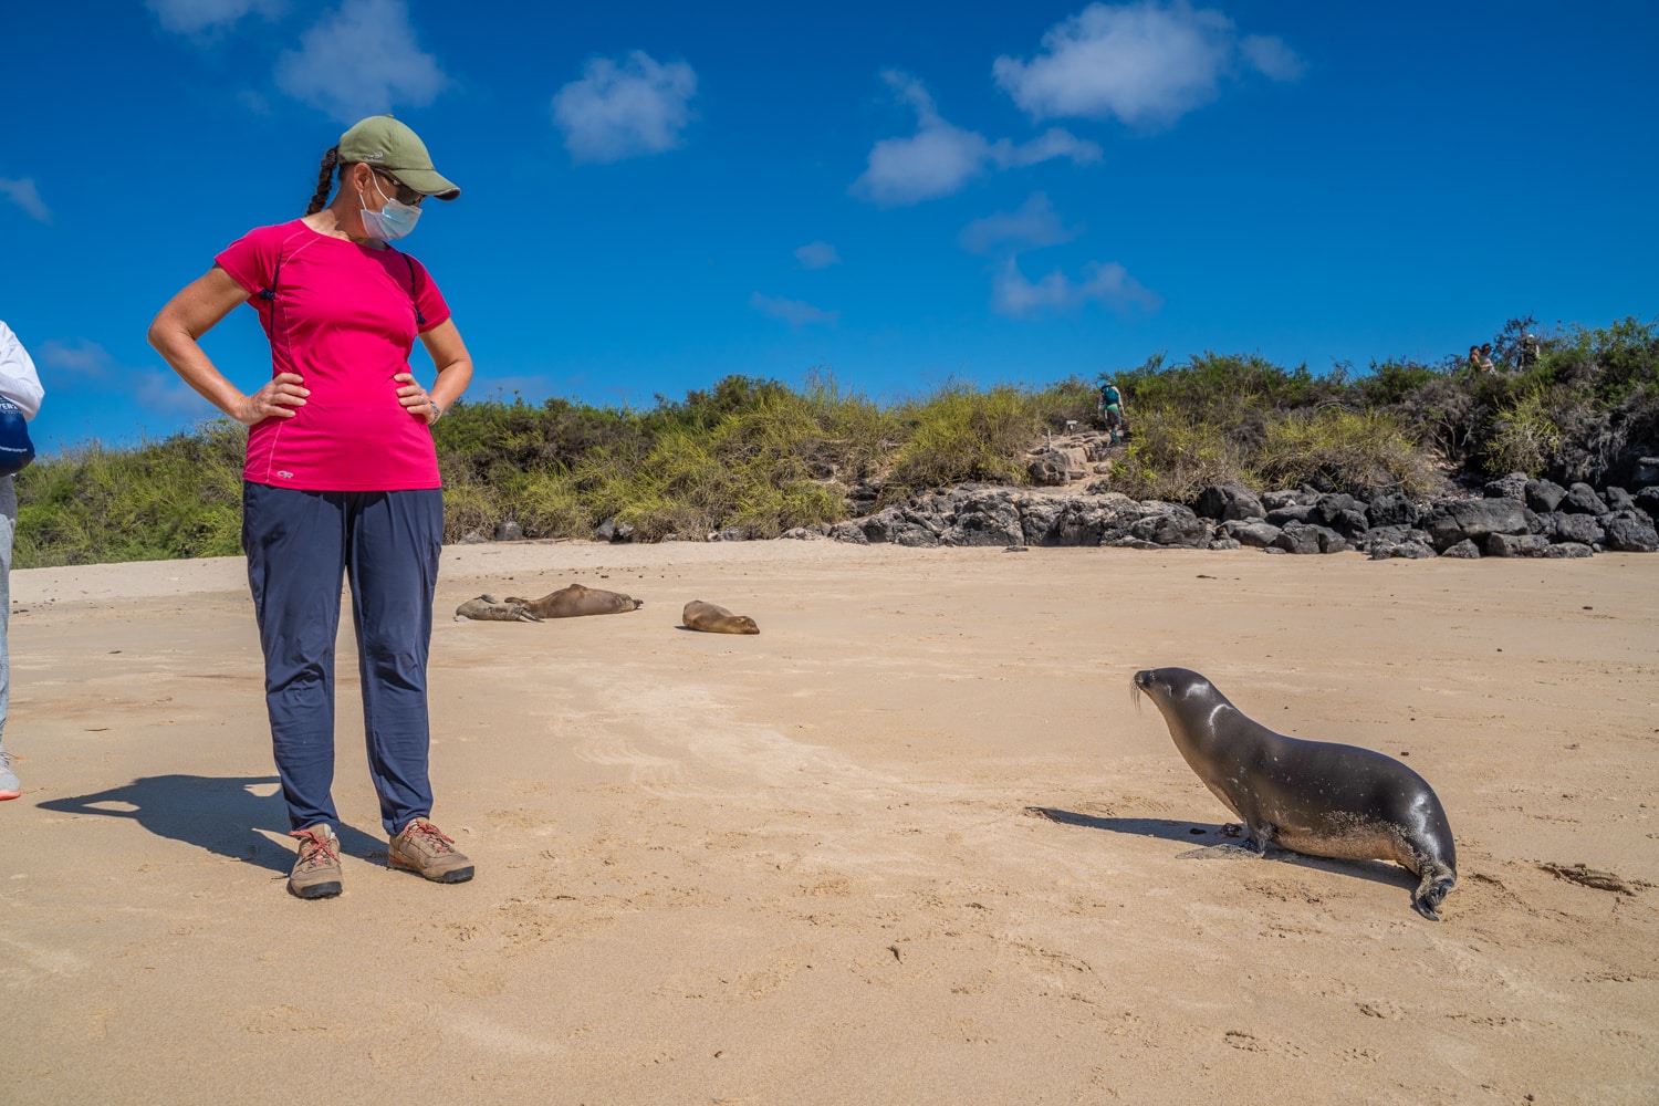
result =
[{"label": "navy blue pants worn by the woman in pink", "polygon": [[333,640],[340,579],[363,682],[368,773],[380,824],[431,814],[426,655],[443,544],[443,492],[295,491],[242,484],[242,549],[265,650],[270,741],[294,829],[333,809]]}]

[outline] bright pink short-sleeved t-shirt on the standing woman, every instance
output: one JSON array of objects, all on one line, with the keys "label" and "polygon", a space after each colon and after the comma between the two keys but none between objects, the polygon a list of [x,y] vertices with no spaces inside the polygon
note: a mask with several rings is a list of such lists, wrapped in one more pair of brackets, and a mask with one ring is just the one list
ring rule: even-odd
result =
[{"label": "bright pink short-sleeved t-shirt on the standing woman", "polygon": [[[214,260],[259,310],[270,375],[299,373],[310,388],[294,418],[247,431],[244,479],[302,491],[440,488],[431,429],[398,403],[392,380],[410,371],[416,333],[450,318],[421,264],[299,219],[249,230]],[[260,292],[272,282],[267,300]]]}]

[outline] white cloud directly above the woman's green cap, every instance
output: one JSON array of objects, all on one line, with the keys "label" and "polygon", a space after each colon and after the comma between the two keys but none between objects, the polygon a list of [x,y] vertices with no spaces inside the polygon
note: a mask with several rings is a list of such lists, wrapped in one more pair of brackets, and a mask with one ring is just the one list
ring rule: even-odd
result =
[{"label": "white cloud directly above the woman's green cap", "polygon": [[450,80],[415,43],[403,0],[342,0],[277,58],[277,88],[340,123],[423,108]]}]

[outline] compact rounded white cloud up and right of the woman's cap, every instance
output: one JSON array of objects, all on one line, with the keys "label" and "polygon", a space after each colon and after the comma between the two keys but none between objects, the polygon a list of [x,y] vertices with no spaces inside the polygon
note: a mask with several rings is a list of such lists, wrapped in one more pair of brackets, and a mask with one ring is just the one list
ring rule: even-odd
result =
[{"label": "compact rounded white cloud up and right of the woman's cap", "polygon": [[662,65],[644,50],[615,63],[594,58],[582,80],[552,98],[552,121],[576,161],[620,161],[660,154],[684,141],[692,121],[697,73],[685,61]]}]

